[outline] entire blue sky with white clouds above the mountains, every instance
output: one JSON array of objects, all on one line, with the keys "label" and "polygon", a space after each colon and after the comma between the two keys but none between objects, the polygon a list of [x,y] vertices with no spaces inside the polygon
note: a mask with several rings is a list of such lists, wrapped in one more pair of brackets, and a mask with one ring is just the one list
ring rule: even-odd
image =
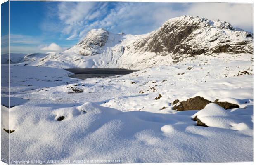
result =
[{"label": "entire blue sky with white clouds above the mountains", "polygon": [[225,20],[253,31],[252,4],[11,1],[11,52],[64,50],[93,28],[148,33],[167,19],[182,15]]}]

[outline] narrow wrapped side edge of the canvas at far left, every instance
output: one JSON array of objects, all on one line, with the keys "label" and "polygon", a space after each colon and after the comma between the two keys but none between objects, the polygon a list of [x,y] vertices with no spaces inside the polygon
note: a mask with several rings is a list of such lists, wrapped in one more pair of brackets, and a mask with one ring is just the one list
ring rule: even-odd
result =
[{"label": "narrow wrapped side edge of the canvas at far left", "polygon": [[9,164],[9,1],[1,4],[1,161]]}]

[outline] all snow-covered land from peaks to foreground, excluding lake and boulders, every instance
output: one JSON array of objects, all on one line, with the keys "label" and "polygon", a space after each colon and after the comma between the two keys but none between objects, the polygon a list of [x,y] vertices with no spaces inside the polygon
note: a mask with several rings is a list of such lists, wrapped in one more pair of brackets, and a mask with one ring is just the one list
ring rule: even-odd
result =
[{"label": "all snow-covered land from peaks to foreground, excluding lake and boulders", "polygon": [[[145,35],[92,30],[64,52],[28,54],[10,65],[1,148],[9,136],[10,160],[31,164],[253,161],[252,37],[223,21],[182,16]],[[140,71],[80,80],[60,69],[75,67]],[[174,100],[196,96],[239,108],[173,110]],[[197,126],[196,116],[209,127]]]}]

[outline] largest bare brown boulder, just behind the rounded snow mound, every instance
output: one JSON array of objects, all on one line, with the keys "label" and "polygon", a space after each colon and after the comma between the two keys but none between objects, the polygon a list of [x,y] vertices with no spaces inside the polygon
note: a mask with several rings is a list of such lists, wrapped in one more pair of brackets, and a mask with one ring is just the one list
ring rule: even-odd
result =
[{"label": "largest bare brown boulder, just behind the rounded snow mound", "polygon": [[209,103],[211,103],[211,101],[206,100],[203,97],[196,96],[194,98],[187,99],[187,101],[181,101],[179,105],[173,107],[173,110],[201,110]]}]

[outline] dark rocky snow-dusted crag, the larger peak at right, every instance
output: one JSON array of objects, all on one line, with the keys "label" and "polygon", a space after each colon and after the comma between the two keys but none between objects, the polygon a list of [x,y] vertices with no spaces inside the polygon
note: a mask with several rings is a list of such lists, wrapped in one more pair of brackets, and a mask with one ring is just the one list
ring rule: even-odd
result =
[{"label": "dark rocky snow-dusted crag, the larger peak at right", "polygon": [[[253,35],[225,21],[181,16],[133,43],[135,51],[171,54],[173,59],[216,53],[253,53]],[[129,48],[129,47],[128,47]]]}]

